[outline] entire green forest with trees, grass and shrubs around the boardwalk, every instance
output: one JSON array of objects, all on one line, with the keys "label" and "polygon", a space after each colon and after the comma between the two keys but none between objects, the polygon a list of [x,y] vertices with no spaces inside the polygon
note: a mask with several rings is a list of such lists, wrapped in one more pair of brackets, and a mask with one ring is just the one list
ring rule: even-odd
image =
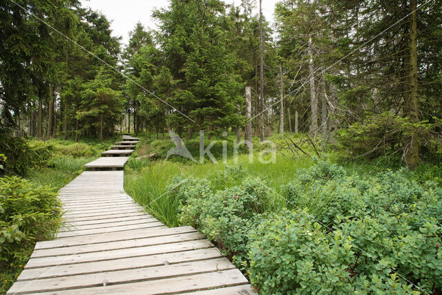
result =
[{"label": "entire green forest with trees, grass and shrubs around the boardwalk", "polygon": [[[0,291],[131,133],[126,191],[260,294],[442,293],[442,1],[226,2],[170,0],[123,44],[77,0],[1,1]],[[201,136],[219,162],[167,155]],[[20,180],[54,204],[13,205]]]}]

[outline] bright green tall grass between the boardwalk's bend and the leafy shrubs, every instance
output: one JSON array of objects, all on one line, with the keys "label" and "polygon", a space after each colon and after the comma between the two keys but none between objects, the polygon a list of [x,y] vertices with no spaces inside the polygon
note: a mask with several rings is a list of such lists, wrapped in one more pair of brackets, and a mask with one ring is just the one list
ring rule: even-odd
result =
[{"label": "bright green tall grass between the boardwalk's bend and the leafy shrubs", "polygon": [[276,155],[276,163],[269,164],[259,162],[258,156],[253,158],[253,162],[249,162],[249,155],[240,155],[238,164],[233,159],[228,160],[227,164],[222,162],[218,162],[218,164],[213,162],[204,164],[169,161],[148,162],[145,160],[145,166],[140,170],[134,170],[134,168],[140,168],[136,164],[126,169],[124,188],[136,202],[144,206],[158,220],[170,227],[175,227],[178,225],[177,211],[180,200],[171,196],[167,191],[167,187],[175,176],[182,178],[207,177],[211,180],[213,189],[224,189],[242,182],[243,177],[222,177],[227,166],[238,165],[244,171],[244,177],[251,175],[262,178],[270,188],[279,191],[281,185],[293,179],[299,169],[307,168],[311,164],[312,161],[307,157],[290,159],[282,155]]}]

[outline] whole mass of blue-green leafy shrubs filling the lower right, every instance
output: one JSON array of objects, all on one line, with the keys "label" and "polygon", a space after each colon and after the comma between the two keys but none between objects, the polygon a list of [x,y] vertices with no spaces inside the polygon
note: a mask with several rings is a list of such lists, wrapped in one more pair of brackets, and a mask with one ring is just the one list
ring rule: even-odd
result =
[{"label": "whole mass of blue-green leafy shrubs filling the lower right", "polygon": [[434,182],[405,169],[359,175],[316,160],[280,196],[250,177],[213,189],[219,184],[209,180],[241,174],[227,171],[177,178],[169,191],[180,224],[200,229],[263,294],[441,290],[442,189]]}]

